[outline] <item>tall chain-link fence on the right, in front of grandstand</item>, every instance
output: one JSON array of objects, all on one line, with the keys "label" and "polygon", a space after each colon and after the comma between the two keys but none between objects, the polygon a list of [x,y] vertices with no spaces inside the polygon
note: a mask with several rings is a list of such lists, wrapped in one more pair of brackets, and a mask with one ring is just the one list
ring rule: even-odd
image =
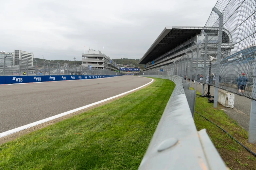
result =
[{"label": "tall chain-link fence on the right, in front of grandstand", "polygon": [[219,0],[189,51],[139,74],[179,75],[256,100],[255,12],[256,0]]}]

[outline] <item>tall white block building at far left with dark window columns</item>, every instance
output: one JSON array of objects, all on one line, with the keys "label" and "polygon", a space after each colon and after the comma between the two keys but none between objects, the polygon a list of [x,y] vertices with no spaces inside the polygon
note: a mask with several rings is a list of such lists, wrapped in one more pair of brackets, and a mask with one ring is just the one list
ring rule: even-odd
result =
[{"label": "tall white block building at far left with dark window columns", "polygon": [[14,50],[14,56],[13,56],[14,65],[19,65],[19,60],[20,60],[21,65],[26,66],[27,59],[29,59],[28,66],[33,66],[34,54],[32,52]]}]

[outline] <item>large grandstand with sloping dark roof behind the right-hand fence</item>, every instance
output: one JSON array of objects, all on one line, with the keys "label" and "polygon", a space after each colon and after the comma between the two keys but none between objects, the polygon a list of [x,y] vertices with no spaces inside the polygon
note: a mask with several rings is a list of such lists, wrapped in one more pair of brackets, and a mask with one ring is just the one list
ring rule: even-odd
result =
[{"label": "large grandstand with sloping dark roof behind the right-hand fence", "polygon": [[[209,36],[207,55],[213,57],[217,54],[218,27],[168,27],[166,26],[158,36],[151,47],[146,51],[138,64],[145,64],[145,69],[161,67],[179,60],[186,52],[196,49],[196,44],[204,49],[205,40],[202,30]],[[222,34],[221,57],[226,58],[234,48],[232,36],[228,30],[223,29]],[[203,63],[204,51],[201,50],[201,56],[198,67]],[[195,59],[196,60],[196,59]],[[194,63],[195,61],[193,61]],[[209,61],[207,61],[209,63]]]}]

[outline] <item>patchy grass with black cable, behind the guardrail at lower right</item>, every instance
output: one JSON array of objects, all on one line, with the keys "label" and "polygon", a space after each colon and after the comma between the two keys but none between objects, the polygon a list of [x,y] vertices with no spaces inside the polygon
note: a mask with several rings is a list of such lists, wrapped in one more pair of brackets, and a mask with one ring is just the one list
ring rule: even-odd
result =
[{"label": "patchy grass with black cable, behind the guardrail at lower right", "polygon": [[[199,92],[196,93],[201,94]],[[248,132],[241,128],[235,120],[232,120],[219,106],[215,109],[212,103],[208,103],[207,98],[196,97],[195,111],[222,127],[236,140],[256,153],[256,145],[247,142]],[[195,113],[194,120],[198,131],[204,128],[207,129],[207,134],[210,136],[223,161],[230,169],[256,170],[255,156],[235,142],[235,140],[231,139],[230,136],[217,126],[197,113]]]}]

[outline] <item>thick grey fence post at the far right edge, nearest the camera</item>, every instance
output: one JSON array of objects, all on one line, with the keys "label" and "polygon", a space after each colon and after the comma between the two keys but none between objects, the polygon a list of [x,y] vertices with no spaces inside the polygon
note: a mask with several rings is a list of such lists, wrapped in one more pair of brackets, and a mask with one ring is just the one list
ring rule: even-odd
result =
[{"label": "thick grey fence post at the far right edge, nearest the camera", "polygon": [[[254,53],[254,67],[253,67],[253,87],[252,87],[252,96],[256,95],[256,56]],[[251,111],[250,111],[250,124],[249,124],[249,133],[248,133],[248,142],[256,142],[256,101],[251,99]]]}]

